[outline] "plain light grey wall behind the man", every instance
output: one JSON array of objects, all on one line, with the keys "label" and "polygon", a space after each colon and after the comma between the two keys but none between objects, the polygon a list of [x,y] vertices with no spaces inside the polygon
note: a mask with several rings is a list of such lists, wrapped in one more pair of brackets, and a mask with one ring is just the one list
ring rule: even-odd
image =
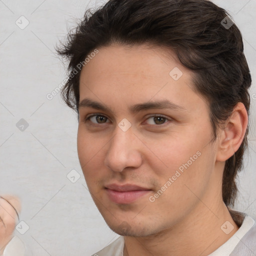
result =
[{"label": "plain light grey wall behind the man", "polygon": [[[75,113],[59,93],[46,98],[65,77],[54,45],[87,7],[102,2],[0,0],[0,194],[21,198],[20,219],[29,229],[15,234],[28,245],[29,255],[90,255],[118,237],[87,190],[77,158]],[[249,151],[235,208],[256,218],[256,0],[214,2],[240,28],[253,80]],[[24,29],[15,23],[25,24],[22,15],[29,21]],[[16,127],[21,118],[28,123],[23,131]],[[74,183],[66,177],[72,169],[80,174]]]}]

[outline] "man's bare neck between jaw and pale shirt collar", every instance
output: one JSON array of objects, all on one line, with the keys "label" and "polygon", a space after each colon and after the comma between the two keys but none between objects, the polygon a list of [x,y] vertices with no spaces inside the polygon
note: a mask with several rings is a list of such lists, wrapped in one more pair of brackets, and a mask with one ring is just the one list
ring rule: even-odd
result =
[{"label": "man's bare neck between jaw and pale shirt collar", "polygon": [[[212,207],[216,205],[216,207]],[[207,207],[198,203],[193,212],[179,223],[146,237],[124,236],[124,256],[149,255],[190,255],[206,256],[226,242],[237,230],[226,205],[221,200],[219,204],[212,203]],[[234,228],[226,234],[220,228],[224,222]],[[184,228],[185,227],[185,228]],[[231,228],[230,228],[231,229]]]}]

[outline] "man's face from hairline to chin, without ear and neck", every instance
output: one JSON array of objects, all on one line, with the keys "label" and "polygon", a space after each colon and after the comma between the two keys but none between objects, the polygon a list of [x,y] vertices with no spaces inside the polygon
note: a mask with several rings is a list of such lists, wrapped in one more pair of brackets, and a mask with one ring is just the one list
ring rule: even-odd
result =
[{"label": "man's face from hairline to chin, without ear and neck", "polygon": [[220,192],[209,110],[191,78],[166,49],[145,45],[98,48],[81,70],[79,161],[116,233],[170,228]]}]

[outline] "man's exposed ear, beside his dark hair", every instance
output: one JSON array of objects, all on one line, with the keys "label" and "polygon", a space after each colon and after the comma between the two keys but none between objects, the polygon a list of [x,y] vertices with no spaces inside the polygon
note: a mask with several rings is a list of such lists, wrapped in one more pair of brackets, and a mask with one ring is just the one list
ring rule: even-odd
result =
[{"label": "man's exposed ear, beside his dark hair", "polygon": [[231,157],[242,143],[248,125],[248,115],[242,102],[238,102],[224,127],[219,131],[216,160],[225,161]]}]

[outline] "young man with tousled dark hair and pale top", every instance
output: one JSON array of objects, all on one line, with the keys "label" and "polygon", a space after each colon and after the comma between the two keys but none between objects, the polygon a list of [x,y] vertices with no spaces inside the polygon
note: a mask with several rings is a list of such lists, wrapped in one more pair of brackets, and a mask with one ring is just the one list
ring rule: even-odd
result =
[{"label": "young man with tousled dark hair and pale top", "polygon": [[256,255],[231,210],[251,76],[240,31],[208,0],[110,0],[58,53],[91,196],[121,236],[94,255]]}]

